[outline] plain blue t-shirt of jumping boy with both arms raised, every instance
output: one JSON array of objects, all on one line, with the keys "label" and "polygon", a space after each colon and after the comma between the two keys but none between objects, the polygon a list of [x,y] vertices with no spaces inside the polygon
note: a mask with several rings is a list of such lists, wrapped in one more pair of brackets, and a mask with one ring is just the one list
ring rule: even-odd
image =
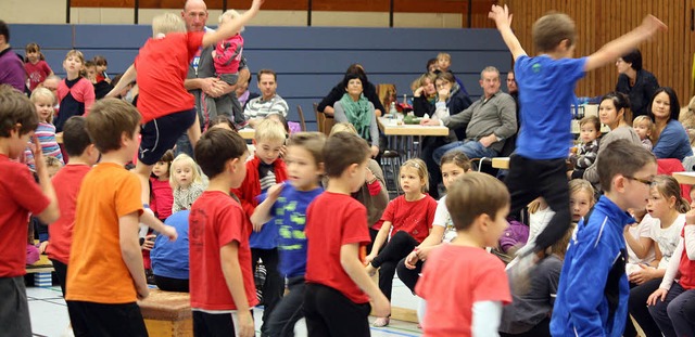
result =
[{"label": "plain blue t-shirt of jumping boy with both arms raised", "polygon": [[547,55],[517,59],[521,128],[516,153],[531,159],[567,158],[572,142],[574,87],[584,77],[586,57],[553,60]]}]

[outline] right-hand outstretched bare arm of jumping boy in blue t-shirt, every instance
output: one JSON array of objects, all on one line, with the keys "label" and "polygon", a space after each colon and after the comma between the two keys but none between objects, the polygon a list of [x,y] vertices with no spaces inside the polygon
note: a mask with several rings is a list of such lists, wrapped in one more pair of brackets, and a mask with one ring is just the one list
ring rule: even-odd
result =
[{"label": "right-hand outstretched bare arm of jumping boy in blue t-shirt", "polygon": [[637,48],[640,43],[650,39],[657,31],[666,29],[666,25],[654,15],[647,15],[639,27],[604,44],[598,51],[591,54],[584,65],[584,72],[615,62],[618,57]]}]

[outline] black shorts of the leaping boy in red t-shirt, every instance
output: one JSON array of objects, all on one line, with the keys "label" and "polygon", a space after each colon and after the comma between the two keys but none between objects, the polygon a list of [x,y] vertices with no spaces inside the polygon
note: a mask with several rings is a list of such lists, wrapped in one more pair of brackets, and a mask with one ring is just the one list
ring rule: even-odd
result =
[{"label": "black shorts of the leaping boy in red t-shirt", "polygon": [[138,159],[154,165],[165,152],[174,148],[176,141],[195,122],[195,109],[188,109],[155,118],[142,126],[142,140]]}]

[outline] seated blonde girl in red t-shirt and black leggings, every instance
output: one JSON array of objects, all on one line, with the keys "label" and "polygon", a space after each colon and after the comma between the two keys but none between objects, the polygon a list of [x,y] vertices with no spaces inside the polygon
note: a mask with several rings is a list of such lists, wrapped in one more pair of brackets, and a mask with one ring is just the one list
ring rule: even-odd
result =
[{"label": "seated blonde girl in red t-shirt and black leggings", "polygon": [[[428,172],[425,161],[410,159],[401,166],[400,184],[404,192],[389,203],[381,219],[383,224],[365,258],[367,272],[379,271],[379,288],[391,300],[395,267],[430,233],[437,202],[427,194]],[[391,232],[389,243],[383,246]],[[383,249],[381,249],[383,247]],[[380,251],[381,250],[381,251]],[[378,317],[375,326],[386,326],[389,317]]]}]

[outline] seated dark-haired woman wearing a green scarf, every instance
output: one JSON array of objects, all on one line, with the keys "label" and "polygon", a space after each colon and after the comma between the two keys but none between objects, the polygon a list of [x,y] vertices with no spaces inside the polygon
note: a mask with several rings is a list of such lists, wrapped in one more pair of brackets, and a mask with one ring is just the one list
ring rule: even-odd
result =
[{"label": "seated dark-haired woman wearing a green scarf", "polygon": [[359,75],[350,74],[343,81],[343,96],[333,104],[336,122],[350,122],[357,134],[371,144],[371,156],[379,155],[379,126],[374,104],[363,94]]}]

